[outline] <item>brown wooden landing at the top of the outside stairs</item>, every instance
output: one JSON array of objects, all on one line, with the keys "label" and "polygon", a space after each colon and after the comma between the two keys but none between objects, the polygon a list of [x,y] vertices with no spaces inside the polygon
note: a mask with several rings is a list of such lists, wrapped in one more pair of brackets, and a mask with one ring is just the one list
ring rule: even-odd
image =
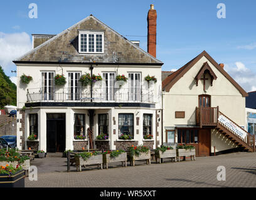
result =
[{"label": "brown wooden landing at the top of the outside stairs", "polygon": [[196,107],[196,126],[216,126],[218,114],[218,107]]}]

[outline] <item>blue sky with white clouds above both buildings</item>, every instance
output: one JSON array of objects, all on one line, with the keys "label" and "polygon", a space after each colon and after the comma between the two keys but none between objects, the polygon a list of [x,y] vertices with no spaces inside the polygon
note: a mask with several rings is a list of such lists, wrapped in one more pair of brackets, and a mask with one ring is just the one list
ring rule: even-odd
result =
[{"label": "blue sky with white clouds above both buildings", "polygon": [[[38,18],[29,17],[29,4]],[[225,18],[217,5],[225,4]],[[32,48],[31,34],[58,34],[93,14],[147,51],[147,12],[157,11],[157,59],[175,71],[207,51],[245,91],[256,91],[256,1],[247,0],[3,0],[0,65],[16,83],[12,61]],[[223,7],[221,7],[223,8]],[[221,12],[223,14],[223,12]]]}]

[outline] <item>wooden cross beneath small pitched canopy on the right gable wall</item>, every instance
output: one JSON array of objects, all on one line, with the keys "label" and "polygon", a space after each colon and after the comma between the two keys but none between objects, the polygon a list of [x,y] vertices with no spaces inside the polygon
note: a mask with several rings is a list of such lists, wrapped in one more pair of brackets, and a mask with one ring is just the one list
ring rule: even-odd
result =
[{"label": "wooden cross beneath small pitched canopy on the right gable wall", "polygon": [[[206,92],[205,89],[205,83],[208,80],[208,78],[205,77],[206,74],[209,74],[211,77],[211,86],[213,86],[213,80],[217,79],[216,74],[213,72],[213,70],[210,68],[209,64],[205,62],[203,66],[201,67],[200,71],[198,71],[198,74],[196,74],[195,80],[196,80],[196,86],[198,86],[198,81],[203,81],[203,91]],[[203,78],[201,78],[203,76]]]}]

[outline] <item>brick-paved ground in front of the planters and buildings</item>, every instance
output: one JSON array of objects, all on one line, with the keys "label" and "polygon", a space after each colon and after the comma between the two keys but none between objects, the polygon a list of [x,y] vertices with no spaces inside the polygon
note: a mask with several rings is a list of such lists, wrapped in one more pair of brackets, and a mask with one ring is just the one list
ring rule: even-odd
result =
[{"label": "brick-paved ground in front of the planters and buildings", "polygon": [[[100,170],[97,166],[72,167],[67,173],[66,158],[35,159],[38,181],[25,180],[26,187],[256,187],[256,153],[232,153],[196,158],[196,161],[147,166],[136,161],[135,167],[110,165]],[[218,166],[225,166],[226,181],[218,181]]]}]

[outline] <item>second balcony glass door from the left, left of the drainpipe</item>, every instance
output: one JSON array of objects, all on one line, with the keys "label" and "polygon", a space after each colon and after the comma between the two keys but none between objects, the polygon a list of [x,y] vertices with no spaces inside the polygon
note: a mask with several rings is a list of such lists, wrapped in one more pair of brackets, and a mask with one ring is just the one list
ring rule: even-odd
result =
[{"label": "second balcony glass door from the left, left of the drainpipe", "polygon": [[68,100],[79,100],[80,96],[80,79],[81,73],[68,73]]}]

